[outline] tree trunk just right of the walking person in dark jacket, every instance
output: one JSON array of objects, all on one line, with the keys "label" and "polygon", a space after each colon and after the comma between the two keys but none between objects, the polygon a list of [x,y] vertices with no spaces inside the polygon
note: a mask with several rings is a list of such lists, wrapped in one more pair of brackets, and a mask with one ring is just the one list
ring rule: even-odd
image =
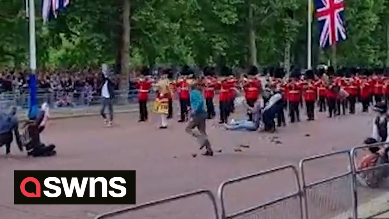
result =
[{"label": "tree trunk just right of the walking person in dark jacket", "polygon": [[130,0],[123,0],[123,35],[120,60],[120,84],[121,102],[128,100],[128,74],[130,73]]}]

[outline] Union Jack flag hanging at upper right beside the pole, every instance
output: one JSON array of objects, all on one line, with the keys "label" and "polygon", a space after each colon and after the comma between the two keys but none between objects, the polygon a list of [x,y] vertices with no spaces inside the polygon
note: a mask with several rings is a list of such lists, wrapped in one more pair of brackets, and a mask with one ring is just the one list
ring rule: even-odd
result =
[{"label": "Union Jack flag hanging at upper right beside the pole", "polygon": [[316,16],[319,21],[320,40],[322,48],[345,40],[346,29],[344,22],[343,0],[315,0]]}]

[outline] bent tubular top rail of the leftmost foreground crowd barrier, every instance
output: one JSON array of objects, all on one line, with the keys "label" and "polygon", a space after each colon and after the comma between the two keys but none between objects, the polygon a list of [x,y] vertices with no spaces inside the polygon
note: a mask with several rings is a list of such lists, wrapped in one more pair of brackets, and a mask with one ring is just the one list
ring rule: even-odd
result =
[{"label": "bent tubular top rail of the leftmost foreground crowd barrier", "polygon": [[[200,190],[189,192],[189,193],[179,194],[179,195],[176,195],[176,196],[171,196],[171,197],[168,197],[168,198],[163,198],[163,199],[160,199],[160,200],[147,202],[147,203],[144,203],[144,204],[141,204],[141,205],[136,205],[136,206],[133,206],[133,207],[113,210],[111,212],[107,212],[107,213],[104,213],[104,214],[97,215],[95,217],[95,219],[112,218],[112,217],[116,217],[117,215],[122,215],[122,214],[130,213],[130,212],[135,212],[137,210],[141,210],[141,209],[145,209],[145,208],[151,208],[151,207],[154,207],[156,205],[162,205],[162,204],[165,204],[165,203],[168,203],[168,202],[182,200],[182,199],[191,198],[193,196],[200,196],[200,195],[206,195],[209,198],[209,200],[212,203],[212,207],[213,207],[213,211],[214,211],[214,219],[219,219],[219,212],[217,210],[216,199],[215,199],[215,197],[214,197],[214,195],[212,194],[211,191],[205,190],[205,189],[200,189]],[[127,217],[127,218],[131,218],[131,217]]]}]

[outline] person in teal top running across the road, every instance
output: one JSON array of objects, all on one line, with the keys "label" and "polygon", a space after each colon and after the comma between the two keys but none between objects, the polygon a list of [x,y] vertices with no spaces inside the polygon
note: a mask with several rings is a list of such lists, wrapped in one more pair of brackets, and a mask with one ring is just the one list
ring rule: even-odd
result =
[{"label": "person in teal top running across the road", "polygon": [[[191,104],[191,120],[188,123],[185,131],[194,136],[200,143],[200,150],[204,147],[207,151],[203,154],[205,156],[213,156],[211,144],[208,140],[208,135],[205,131],[205,119],[207,118],[207,111],[205,110],[204,97],[200,87],[196,83],[191,86],[189,94]],[[198,132],[193,131],[197,127]]]}]

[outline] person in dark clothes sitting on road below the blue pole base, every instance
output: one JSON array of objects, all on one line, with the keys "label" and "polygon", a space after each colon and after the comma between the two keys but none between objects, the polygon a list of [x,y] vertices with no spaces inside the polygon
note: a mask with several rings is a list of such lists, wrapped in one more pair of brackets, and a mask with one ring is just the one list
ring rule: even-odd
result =
[{"label": "person in dark clothes sitting on road below the blue pole base", "polygon": [[28,156],[44,157],[56,154],[55,145],[46,146],[40,142],[40,132],[44,129],[44,123],[47,120],[47,111],[41,110],[37,116],[30,115],[30,120],[23,126],[21,138],[21,147],[25,147]]}]

